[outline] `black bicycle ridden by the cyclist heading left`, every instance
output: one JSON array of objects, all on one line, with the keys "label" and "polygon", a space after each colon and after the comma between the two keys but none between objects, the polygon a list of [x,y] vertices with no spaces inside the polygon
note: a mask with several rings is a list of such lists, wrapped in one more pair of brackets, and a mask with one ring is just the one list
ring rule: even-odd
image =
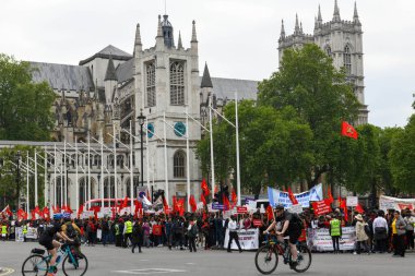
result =
[{"label": "black bicycle ridden by the cyclist heading left", "polygon": [[[256,266],[260,273],[273,273],[278,265],[278,255],[283,256],[284,264],[292,264],[292,254],[287,241],[282,243],[276,237],[269,239],[269,235],[266,235],[263,243],[265,244],[259,248],[256,254]],[[311,265],[311,252],[306,245],[297,243],[296,247],[298,252],[297,264],[292,268],[297,273],[304,273]]]}]

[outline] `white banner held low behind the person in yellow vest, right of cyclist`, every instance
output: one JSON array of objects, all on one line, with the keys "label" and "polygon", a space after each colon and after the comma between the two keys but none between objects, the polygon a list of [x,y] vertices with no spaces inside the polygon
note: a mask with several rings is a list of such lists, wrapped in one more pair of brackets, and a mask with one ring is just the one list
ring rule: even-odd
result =
[{"label": "white banner held low behind the person in yellow vest, right of cyclist", "polygon": [[[354,227],[342,227],[342,239],[339,242],[340,250],[354,250],[356,230]],[[333,242],[329,229],[307,229],[308,247],[313,251],[333,251]]]}]

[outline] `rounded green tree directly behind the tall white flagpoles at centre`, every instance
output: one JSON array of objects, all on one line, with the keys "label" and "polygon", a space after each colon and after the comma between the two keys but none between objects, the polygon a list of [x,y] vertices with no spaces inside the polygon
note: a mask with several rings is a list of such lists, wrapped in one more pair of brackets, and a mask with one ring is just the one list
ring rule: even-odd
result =
[{"label": "rounded green tree directly behind the tall white flagpoles at centre", "polygon": [[[224,115],[235,121],[234,103],[225,106]],[[312,164],[309,151],[312,133],[293,108],[276,110],[242,100],[238,104],[238,121],[242,188],[259,195],[266,185],[286,185],[305,177],[304,171]],[[213,135],[215,171],[221,171],[217,175],[225,181],[236,171],[235,129],[220,120]],[[206,173],[210,170],[209,135],[199,143],[198,157]]]}]

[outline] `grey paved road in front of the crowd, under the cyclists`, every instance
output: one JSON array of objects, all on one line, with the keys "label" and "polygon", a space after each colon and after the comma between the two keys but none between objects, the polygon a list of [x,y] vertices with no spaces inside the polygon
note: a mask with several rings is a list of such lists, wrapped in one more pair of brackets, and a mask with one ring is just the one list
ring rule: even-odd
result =
[{"label": "grey paved road in front of the crowd, under the cyclists", "polygon": [[[21,275],[21,265],[36,243],[0,242],[0,267]],[[171,275],[171,276],[225,276],[261,275],[253,263],[253,252],[204,251],[197,253],[166,248],[144,249],[144,253],[132,254],[130,250],[102,245],[84,247],[90,267],[86,275]],[[313,254],[312,265],[304,275],[336,276],[413,276],[415,254],[394,259],[390,254]],[[296,275],[287,265],[280,263],[273,275]],[[58,275],[63,275],[61,271]],[[2,276],[2,273],[0,273]]]}]

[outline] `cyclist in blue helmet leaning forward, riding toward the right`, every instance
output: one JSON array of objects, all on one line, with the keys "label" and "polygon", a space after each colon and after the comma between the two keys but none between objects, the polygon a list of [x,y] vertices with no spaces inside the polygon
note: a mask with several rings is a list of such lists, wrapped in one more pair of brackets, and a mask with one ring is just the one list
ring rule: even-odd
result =
[{"label": "cyclist in blue helmet leaning forward, riding toward the right", "polygon": [[62,231],[62,214],[55,214],[54,215],[54,223],[51,227],[48,227],[40,236],[39,238],[39,244],[44,245],[46,250],[51,255],[51,259],[49,261],[49,271],[46,274],[47,276],[55,276],[56,272],[56,260],[58,256],[57,249],[61,245],[60,242],[54,239],[55,235],[63,240],[73,242],[72,239],[68,238],[67,235]]}]

